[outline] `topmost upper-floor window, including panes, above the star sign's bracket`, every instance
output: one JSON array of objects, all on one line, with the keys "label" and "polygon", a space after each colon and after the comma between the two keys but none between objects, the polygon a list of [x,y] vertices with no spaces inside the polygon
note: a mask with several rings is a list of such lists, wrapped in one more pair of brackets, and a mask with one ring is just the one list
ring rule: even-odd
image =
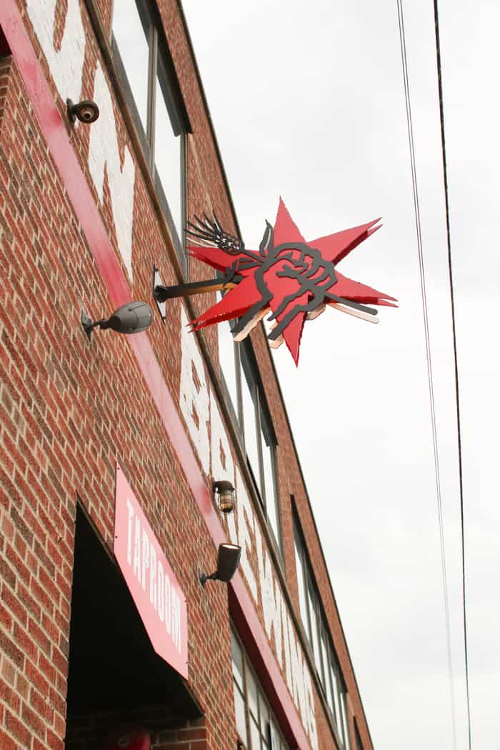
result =
[{"label": "topmost upper-floor window, including panes, above the star sign's bracket", "polygon": [[163,28],[148,0],[115,3],[112,53],[170,236],[184,254],[184,133],[187,114]]}]

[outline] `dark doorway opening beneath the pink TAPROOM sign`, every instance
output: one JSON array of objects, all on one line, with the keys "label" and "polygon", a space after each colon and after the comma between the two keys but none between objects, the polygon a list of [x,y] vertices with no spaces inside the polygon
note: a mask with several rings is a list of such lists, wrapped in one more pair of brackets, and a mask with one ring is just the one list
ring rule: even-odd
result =
[{"label": "dark doorway opening beneath the pink TAPROOM sign", "polygon": [[124,727],[202,726],[184,679],[154,652],[109,550],[77,503],[66,750],[103,750]]}]

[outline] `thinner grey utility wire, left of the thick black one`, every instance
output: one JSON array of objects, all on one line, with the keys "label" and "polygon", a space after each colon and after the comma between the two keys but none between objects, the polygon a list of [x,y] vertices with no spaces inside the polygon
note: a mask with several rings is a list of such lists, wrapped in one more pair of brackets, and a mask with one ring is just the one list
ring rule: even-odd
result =
[{"label": "thinner grey utility wire, left of the thick black one", "polygon": [[444,524],[443,524],[441,475],[439,471],[439,448],[438,448],[438,438],[437,438],[437,428],[436,428],[436,404],[435,404],[435,399],[434,399],[433,364],[432,364],[432,356],[431,356],[431,350],[430,350],[429,316],[427,312],[427,287],[426,287],[425,270],[424,270],[424,253],[422,249],[420,202],[418,198],[417,166],[416,166],[416,161],[415,161],[415,140],[413,137],[412,106],[411,106],[411,101],[410,101],[408,62],[407,62],[407,55],[406,55],[406,36],[405,36],[405,26],[404,26],[404,20],[403,20],[402,0],[397,0],[397,18],[398,18],[398,26],[399,26],[399,31],[400,31],[401,64],[403,68],[403,83],[404,83],[404,89],[405,89],[405,104],[406,104],[406,124],[408,127],[410,164],[412,168],[413,204],[415,208],[415,228],[416,228],[416,233],[417,233],[418,266],[419,266],[420,281],[421,281],[422,310],[424,314],[424,334],[425,334],[425,348],[426,348],[426,359],[427,359],[427,380],[429,383],[430,417],[431,417],[432,434],[433,434],[433,449],[434,449],[434,473],[435,473],[435,478],[436,478],[436,499],[437,499],[437,505],[438,505],[438,520],[439,520],[439,542],[441,545],[442,586],[443,586],[443,598],[444,598],[444,604],[445,604],[445,626],[446,626],[446,642],[447,642],[447,650],[448,650],[448,677],[450,681],[453,745],[454,745],[454,750],[457,750],[457,718],[456,718],[456,710],[455,710],[453,667],[452,667],[452,661],[451,661],[450,604],[449,604],[449,597],[448,597],[448,576],[446,572],[445,532],[444,532]]}]

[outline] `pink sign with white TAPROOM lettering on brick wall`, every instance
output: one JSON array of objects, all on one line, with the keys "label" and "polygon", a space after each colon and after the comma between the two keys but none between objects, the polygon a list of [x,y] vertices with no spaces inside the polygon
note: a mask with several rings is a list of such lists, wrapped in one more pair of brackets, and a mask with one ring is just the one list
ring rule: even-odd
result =
[{"label": "pink sign with white TAPROOM lettering on brick wall", "polygon": [[187,679],[186,598],[118,465],[114,552],[154,650]]}]

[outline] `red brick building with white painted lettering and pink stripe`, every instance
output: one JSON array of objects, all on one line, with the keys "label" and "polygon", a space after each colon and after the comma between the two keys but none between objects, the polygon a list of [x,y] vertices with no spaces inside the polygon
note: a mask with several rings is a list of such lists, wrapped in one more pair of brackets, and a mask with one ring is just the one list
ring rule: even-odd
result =
[{"label": "red brick building with white painted lettering and pink stripe", "polygon": [[262,326],[152,297],[187,217],[238,235],[179,3],[2,0],[0,55],[0,748],[372,748]]}]

